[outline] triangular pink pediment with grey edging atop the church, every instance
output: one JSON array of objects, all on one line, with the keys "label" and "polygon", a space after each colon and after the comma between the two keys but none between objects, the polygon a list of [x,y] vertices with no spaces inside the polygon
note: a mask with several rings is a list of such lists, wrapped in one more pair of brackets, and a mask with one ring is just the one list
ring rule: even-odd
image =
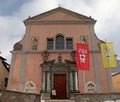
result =
[{"label": "triangular pink pediment with grey edging atop the church", "polygon": [[27,20],[94,20],[91,17],[87,17],[76,12],[58,7],[48,12],[31,17]]}]

